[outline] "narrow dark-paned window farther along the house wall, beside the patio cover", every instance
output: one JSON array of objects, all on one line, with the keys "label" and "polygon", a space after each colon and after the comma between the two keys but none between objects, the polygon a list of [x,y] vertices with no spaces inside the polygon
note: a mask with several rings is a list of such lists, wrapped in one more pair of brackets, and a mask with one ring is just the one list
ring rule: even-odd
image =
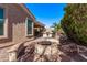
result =
[{"label": "narrow dark-paned window farther along the house wall, beside the patio cover", "polygon": [[33,35],[33,22],[26,19],[26,35]]}]

